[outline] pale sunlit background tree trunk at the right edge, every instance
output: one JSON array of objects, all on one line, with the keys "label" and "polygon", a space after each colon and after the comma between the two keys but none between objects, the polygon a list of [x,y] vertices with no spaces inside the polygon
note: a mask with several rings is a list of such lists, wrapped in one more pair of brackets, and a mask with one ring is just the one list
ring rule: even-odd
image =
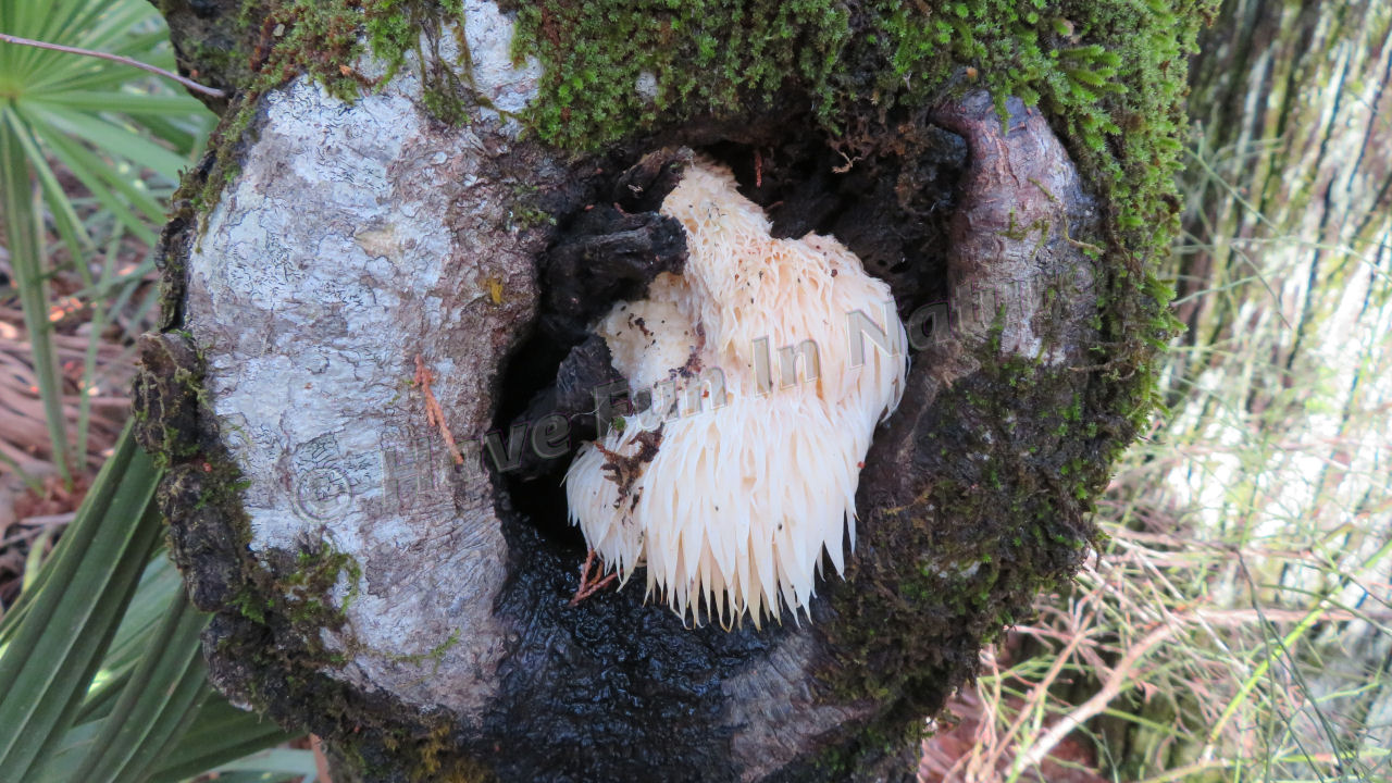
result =
[{"label": "pale sunlit background tree trunk at the right edge", "polygon": [[[1386,3],[1229,0],[1192,68],[1199,146],[1183,183],[1176,302],[1187,333],[1172,361],[1173,415],[1158,435],[1176,458],[1137,490],[1158,515],[1183,517],[1187,538],[1250,542],[1242,566],[1205,589],[1221,609],[1382,609],[1368,585],[1392,575],[1389,532],[1377,522],[1392,500],[1389,38]],[[1314,552],[1320,566],[1289,550]],[[1264,621],[1256,639],[1233,639],[1240,655],[1285,638],[1251,701],[1290,715],[1282,733],[1329,751],[1389,747],[1392,691],[1377,687],[1392,665],[1385,626],[1292,628]],[[1136,709],[1172,719],[1162,699]],[[1320,712],[1328,723],[1315,722]],[[1107,723],[1129,779],[1162,770],[1143,766],[1161,743],[1165,769],[1212,758],[1224,743],[1207,724],[1175,743],[1168,730]],[[1263,743],[1242,731],[1239,745]]]}]

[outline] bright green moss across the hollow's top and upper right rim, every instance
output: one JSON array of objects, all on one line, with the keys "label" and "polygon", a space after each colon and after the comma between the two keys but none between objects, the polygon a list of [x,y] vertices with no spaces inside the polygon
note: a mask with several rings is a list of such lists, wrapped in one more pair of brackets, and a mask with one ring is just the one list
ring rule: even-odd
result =
[{"label": "bright green moss across the hollow's top and upper right rim", "polygon": [[[1037,104],[1105,205],[1102,343],[1115,410],[1154,410],[1176,325],[1151,273],[1178,231],[1187,56],[1217,0],[624,0],[505,3],[518,59],[544,65],[529,121],[599,149],[661,118],[741,117],[780,92],[853,159],[891,123],[969,88]],[[639,82],[644,89],[639,89]],[[1119,447],[1123,447],[1119,446]]]}]

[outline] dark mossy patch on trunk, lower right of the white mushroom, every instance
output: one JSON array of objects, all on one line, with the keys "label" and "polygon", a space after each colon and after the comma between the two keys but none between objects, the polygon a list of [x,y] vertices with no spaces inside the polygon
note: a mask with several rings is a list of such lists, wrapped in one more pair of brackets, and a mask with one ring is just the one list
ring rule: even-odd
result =
[{"label": "dark mossy patch on trunk, lower right of the white mushroom", "polygon": [[[856,587],[832,598],[853,621],[828,628],[848,659],[825,679],[841,698],[898,697],[892,720],[937,709],[980,645],[1096,545],[1086,515],[1109,447],[1087,435],[1079,373],[990,348],[977,359],[981,371],[934,404],[951,415],[920,435],[965,450],[934,449],[923,493],[870,513],[848,566]],[[1019,410],[1041,414],[1020,421]],[[874,631],[898,627],[919,628],[922,642]]]}]

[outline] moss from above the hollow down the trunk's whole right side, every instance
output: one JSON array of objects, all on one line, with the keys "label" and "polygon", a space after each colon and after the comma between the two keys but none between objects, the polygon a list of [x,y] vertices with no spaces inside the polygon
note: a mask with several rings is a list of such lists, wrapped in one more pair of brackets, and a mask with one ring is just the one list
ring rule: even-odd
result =
[{"label": "moss from above the hollow down the trunk's whole right side", "polygon": [[[512,7],[521,21],[516,56],[536,56],[546,68],[530,120],[561,146],[603,148],[658,118],[738,117],[791,92],[855,159],[895,123],[984,86],[1002,109],[1012,95],[1038,106],[1098,196],[1096,240],[1104,252],[1096,366],[1083,376],[990,348],[974,357],[983,372],[937,403],[954,411],[955,422],[930,429],[955,443],[972,439],[973,426],[991,433],[976,437],[984,464],[927,482],[920,497],[878,510],[871,521],[895,552],[933,555],[857,557],[851,578],[874,584],[834,599],[839,613],[856,617],[846,624],[855,633],[835,639],[846,659],[834,687],[842,697],[898,695],[906,722],[940,695],[916,698],[915,691],[940,691],[973,672],[973,642],[988,641],[1027,610],[1034,592],[1077,567],[1096,535],[1086,524],[1093,499],[1158,408],[1157,355],[1178,325],[1168,309],[1171,290],[1155,269],[1178,231],[1186,59],[1217,1],[670,0],[633,10],[621,0],[540,0]],[[638,89],[640,82],[646,89]],[[999,431],[1012,410],[1037,410],[1041,418],[1019,422],[1019,432]],[[1023,454],[1016,451],[1022,444]],[[935,518],[1019,532],[944,541]],[[1031,549],[1027,536],[1044,536],[1037,543],[1063,555],[1033,559],[1029,552],[1048,548]],[[952,561],[970,563],[970,573],[954,575],[944,567]],[[938,600],[963,588],[976,606]],[[955,651],[912,649],[902,634],[874,634],[973,616],[986,621],[956,637],[965,644]],[[895,745],[898,737],[881,736],[891,724],[876,722],[862,744]],[[837,754],[824,762],[837,766]]]}]

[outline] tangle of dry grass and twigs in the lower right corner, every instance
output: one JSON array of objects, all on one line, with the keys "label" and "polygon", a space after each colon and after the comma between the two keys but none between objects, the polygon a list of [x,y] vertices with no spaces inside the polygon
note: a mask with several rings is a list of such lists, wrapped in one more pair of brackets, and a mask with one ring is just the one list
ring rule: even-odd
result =
[{"label": "tangle of dry grass and twigs in the lower right corner", "polygon": [[1275,327],[1176,354],[1204,369],[1101,500],[1111,541],[983,653],[922,780],[1392,780],[1392,281],[1356,286],[1304,362],[1247,346]]}]

